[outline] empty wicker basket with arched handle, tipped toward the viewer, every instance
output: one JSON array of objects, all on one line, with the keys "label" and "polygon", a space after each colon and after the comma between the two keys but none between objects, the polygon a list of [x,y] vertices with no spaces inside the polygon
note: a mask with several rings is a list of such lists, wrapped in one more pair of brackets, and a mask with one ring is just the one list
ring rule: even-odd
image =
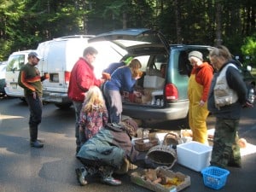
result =
[{"label": "empty wicker basket with arched handle, tipped toward the viewer", "polygon": [[167,145],[168,134],[162,144],[156,145],[153,148],[148,150],[146,154],[146,159],[153,161],[156,164],[161,166],[166,166],[168,169],[171,169],[177,161],[176,150],[172,148],[172,145]]}]

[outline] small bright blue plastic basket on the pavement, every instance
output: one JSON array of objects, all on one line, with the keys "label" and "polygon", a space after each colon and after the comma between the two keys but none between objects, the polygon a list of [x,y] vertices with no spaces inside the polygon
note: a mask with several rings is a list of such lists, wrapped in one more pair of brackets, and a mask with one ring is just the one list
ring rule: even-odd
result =
[{"label": "small bright blue plastic basket on the pavement", "polygon": [[227,177],[230,174],[228,170],[217,166],[208,166],[201,171],[204,184],[212,189],[221,189],[224,187]]}]

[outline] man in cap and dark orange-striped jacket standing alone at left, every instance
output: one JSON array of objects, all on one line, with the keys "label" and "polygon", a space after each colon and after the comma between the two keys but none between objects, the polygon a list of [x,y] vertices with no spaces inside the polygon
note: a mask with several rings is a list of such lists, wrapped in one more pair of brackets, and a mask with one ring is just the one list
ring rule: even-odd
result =
[{"label": "man in cap and dark orange-striped jacket standing alone at left", "polygon": [[38,68],[35,67],[40,60],[37,52],[30,52],[27,60],[26,65],[20,69],[18,83],[24,89],[24,95],[30,110],[30,144],[34,148],[43,148],[44,144],[38,141],[38,125],[42,119],[42,81],[49,77],[47,75],[41,77]]}]

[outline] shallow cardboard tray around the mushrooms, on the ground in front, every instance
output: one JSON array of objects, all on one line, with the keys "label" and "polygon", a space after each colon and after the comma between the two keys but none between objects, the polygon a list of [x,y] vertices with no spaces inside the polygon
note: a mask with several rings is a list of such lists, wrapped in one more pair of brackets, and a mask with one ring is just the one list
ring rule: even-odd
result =
[{"label": "shallow cardboard tray around the mushrooms, on the ground in front", "polygon": [[190,177],[184,175],[181,172],[172,172],[170,170],[166,170],[162,167],[158,167],[156,169],[159,169],[161,172],[164,173],[164,175],[166,177],[169,178],[173,178],[173,177],[177,177],[178,179],[180,179],[182,181],[182,183],[176,185],[162,185],[160,183],[153,183],[147,180],[143,179],[143,172],[132,172],[131,173],[131,182],[132,183],[136,183],[137,185],[140,185],[146,189],[150,189],[152,191],[155,192],[177,192],[180,191],[182,189],[185,189],[187,187],[189,187],[189,185],[191,184],[190,182]]}]

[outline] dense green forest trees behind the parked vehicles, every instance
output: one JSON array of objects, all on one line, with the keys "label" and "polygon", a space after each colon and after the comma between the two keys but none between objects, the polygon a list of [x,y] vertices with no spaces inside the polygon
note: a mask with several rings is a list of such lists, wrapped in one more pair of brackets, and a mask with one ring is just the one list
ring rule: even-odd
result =
[{"label": "dense green forest trees behind the parked vehicles", "polygon": [[255,26],[255,0],[0,0],[0,61],[52,38],[145,27],[170,44],[224,44],[256,67]]}]

